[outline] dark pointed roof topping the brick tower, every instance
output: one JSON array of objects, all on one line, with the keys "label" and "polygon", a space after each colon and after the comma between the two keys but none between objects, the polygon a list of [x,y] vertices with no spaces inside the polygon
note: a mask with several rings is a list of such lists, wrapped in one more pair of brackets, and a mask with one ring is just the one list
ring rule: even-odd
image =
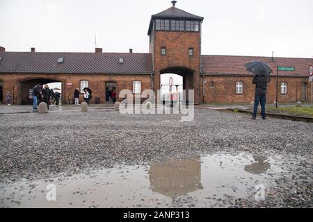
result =
[{"label": "dark pointed roof topping the brick tower", "polygon": [[190,19],[202,21],[204,17],[193,15],[189,12],[186,12],[184,10],[176,8],[175,6],[172,6],[166,10],[163,10],[163,12],[159,12],[157,14],[152,15],[148,35],[151,34],[154,19]]}]

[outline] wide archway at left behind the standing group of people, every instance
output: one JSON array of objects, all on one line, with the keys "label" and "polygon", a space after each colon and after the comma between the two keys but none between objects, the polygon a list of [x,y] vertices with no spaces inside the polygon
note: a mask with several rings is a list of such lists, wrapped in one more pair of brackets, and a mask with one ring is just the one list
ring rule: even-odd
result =
[{"label": "wide archway at left behind the standing group of people", "polygon": [[[24,80],[21,81],[21,104],[22,105],[32,105],[33,104],[33,97],[31,96],[31,93],[33,91],[33,87],[35,85],[38,85],[41,83],[42,85],[48,84],[49,87],[52,89],[60,89],[60,90],[54,90],[54,92],[59,92],[61,93],[61,98],[63,98],[63,90],[62,90],[62,83],[60,80],[56,79],[49,79],[49,78],[35,78],[35,79],[29,79],[29,80]],[[54,83],[54,84],[49,84],[49,83]]]}]

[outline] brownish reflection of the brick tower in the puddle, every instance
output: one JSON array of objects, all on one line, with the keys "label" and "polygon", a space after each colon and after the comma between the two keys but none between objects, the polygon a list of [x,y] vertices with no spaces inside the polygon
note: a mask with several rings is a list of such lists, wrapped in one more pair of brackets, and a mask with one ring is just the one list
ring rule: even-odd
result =
[{"label": "brownish reflection of the brick tower in the puddle", "polygon": [[203,189],[200,157],[152,162],[149,179],[152,191],[171,198]]}]

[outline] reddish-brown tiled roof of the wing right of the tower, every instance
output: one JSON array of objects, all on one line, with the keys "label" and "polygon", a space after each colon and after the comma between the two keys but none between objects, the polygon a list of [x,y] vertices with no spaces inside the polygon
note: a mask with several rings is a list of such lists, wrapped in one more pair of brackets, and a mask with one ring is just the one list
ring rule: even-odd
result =
[{"label": "reddish-brown tiled roof of the wing right of the tower", "polygon": [[211,75],[252,75],[245,64],[255,60],[268,63],[276,74],[276,67],[295,67],[295,71],[279,71],[282,76],[308,76],[312,58],[274,58],[258,56],[202,56],[202,73]]}]

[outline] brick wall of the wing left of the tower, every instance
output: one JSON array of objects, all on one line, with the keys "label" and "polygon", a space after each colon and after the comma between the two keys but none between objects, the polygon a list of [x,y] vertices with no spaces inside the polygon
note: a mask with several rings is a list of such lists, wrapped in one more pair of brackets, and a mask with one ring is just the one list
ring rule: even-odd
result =
[{"label": "brick wall of the wing left of the tower", "polygon": [[[45,79],[43,82],[38,79]],[[133,81],[141,81],[141,91],[151,88],[150,75],[133,74],[1,74],[0,81],[3,83],[3,100],[5,93],[11,92],[13,104],[22,104],[22,100],[27,101],[29,89],[39,82],[51,83],[62,82],[62,100],[72,99],[74,89],[80,89],[81,80],[88,80],[89,87],[93,90],[93,99],[90,103],[95,103],[95,98],[99,97],[100,103],[105,101],[105,83],[116,82],[117,94],[122,89],[133,90]],[[25,82],[27,81],[27,82]],[[83,94],[80,96],[83,101]],[[121,100],[121,99],[120,99]],[[30,100],[31,101],[31,100]]]}]

